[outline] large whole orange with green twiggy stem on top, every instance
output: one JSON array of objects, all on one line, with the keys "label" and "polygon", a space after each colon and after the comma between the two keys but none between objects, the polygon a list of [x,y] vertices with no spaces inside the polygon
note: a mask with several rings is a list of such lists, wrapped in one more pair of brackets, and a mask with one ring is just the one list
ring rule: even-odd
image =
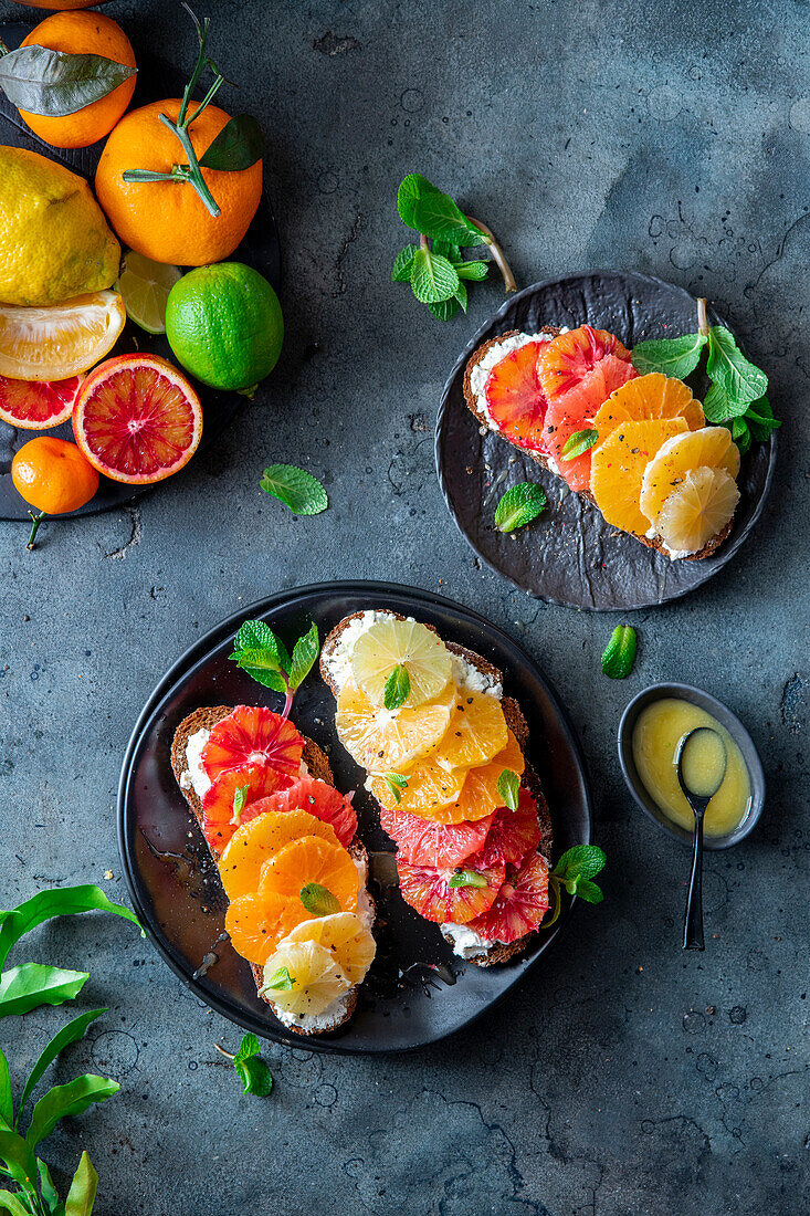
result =
[{"label": "large whole orange with green twiggy stem on top", "polygon": [[[191,102],[191,112],[197,102]],[[178,266],[204,266],[227,258],[248,230],[261,197],[261,162],[226,173],[203,169],[203,179],[220,214],[209,214],[186,181],[124,181],[125,169],[170,173],[186,163],[178,136],[161,122],[178,120],[180,101],[156,101],[133,109],[114,128],[96,170],[96,198],[118,237],[153,261]],[[229,114],[208,106],[189,125],[197,157],[207,151]]]}]

